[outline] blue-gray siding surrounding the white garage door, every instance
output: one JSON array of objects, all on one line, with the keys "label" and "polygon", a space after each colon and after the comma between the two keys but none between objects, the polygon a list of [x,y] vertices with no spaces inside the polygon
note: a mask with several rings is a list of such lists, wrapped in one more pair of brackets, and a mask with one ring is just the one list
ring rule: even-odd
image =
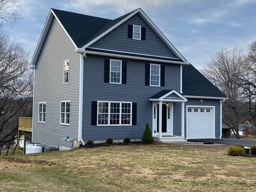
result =
[{"label": "blue-gray siding surrounding the white garage door", "polygon": [[198,106],[215,106],[215,137],[220,137],[220,100],[218,99],[202,99],[203,102],[200,102],[200,99],[188,99],[188,102],[185,102],[185,137],[186,137],[186,114],[187,105],[198,105]]}]

